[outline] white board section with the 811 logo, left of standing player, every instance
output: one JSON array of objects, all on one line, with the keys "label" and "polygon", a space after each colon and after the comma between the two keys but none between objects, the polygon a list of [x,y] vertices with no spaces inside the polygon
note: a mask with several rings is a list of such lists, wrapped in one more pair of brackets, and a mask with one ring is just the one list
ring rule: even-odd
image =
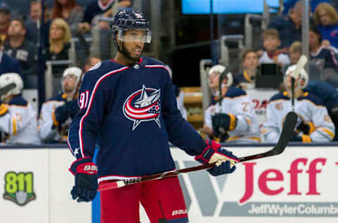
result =
[{"label": "white board section with the 811 logo, left of standing player", "polygon": [[0,222],[90,223],[90,203],[72,200],[68,149],[0,149]]}]

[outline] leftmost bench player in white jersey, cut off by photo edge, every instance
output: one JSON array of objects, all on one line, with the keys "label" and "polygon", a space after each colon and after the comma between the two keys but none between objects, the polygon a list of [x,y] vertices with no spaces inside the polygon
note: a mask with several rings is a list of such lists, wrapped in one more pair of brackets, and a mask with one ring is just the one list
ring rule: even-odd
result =
[{"label": "leftmost bench player in white jersey, cut off by photo edge", "polygon": [[0,131],[6,144],[40,144],[37,113],[21,97],[23,79],[18,73],[0,76]]}]

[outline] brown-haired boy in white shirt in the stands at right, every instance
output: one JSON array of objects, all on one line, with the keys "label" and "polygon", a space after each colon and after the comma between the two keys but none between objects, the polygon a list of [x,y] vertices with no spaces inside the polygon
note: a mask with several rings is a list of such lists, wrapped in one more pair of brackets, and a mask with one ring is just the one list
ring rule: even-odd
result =
[{"label": "brown-haired boy in white shirt in the stands at right", "polygon": [[263,32],[263,46],[265,52],[259,58],[259,64],[278,64],[281,67],[290,64],[289,56],[278,50],[278,47],[280,47],[280,35],[277,30],[269,29]]}]

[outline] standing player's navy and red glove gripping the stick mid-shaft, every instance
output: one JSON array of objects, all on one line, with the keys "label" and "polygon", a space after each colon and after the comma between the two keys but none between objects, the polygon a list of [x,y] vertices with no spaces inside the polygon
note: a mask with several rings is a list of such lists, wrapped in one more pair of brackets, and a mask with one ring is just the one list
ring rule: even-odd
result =
[{"label": "standing player's navy and red glove gripping the stick mid-shaft", "polygon": [[216,166],[208,169],[213,176],[231,174],[236,169],[235,164],[239,162],[239,159],[213,140],[206,140],[206,144],[207,147],[195,159],[202,164],[215,162]]}]

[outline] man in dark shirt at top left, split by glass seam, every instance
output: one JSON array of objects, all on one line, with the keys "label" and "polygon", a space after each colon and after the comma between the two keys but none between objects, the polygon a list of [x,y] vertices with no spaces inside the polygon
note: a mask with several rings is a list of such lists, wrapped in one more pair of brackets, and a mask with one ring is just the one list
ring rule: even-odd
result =
[{"label": "man in dark shirt at top left, split by glass seam", "polygon": [[[44,30],[45,37],[45,46],[49,46],[49,27],[51,26],[51,20],[49,20],[48,10],[45,4],[45,13],[44,13],[44,23],[46,28]],[[39,34],[39,28],[41,27],[41,17],[42,17],[42,5],[38,0],[30,1],[30,17],[25,21],[26,27],[26,39],[37,45]]]}]

